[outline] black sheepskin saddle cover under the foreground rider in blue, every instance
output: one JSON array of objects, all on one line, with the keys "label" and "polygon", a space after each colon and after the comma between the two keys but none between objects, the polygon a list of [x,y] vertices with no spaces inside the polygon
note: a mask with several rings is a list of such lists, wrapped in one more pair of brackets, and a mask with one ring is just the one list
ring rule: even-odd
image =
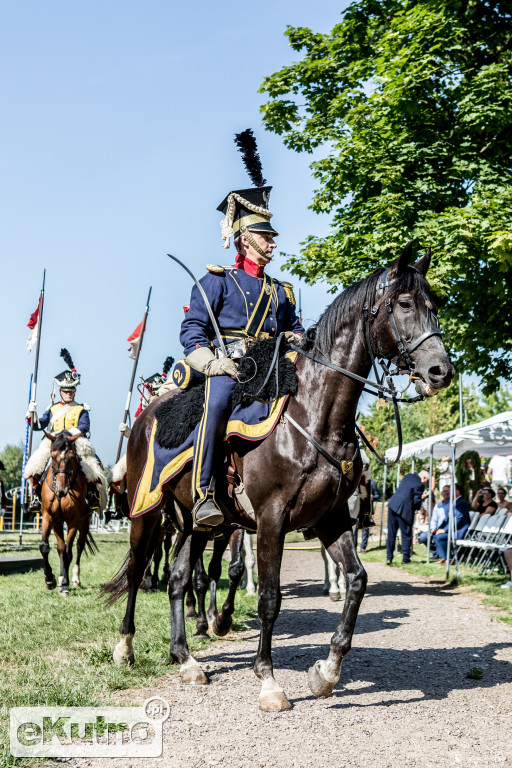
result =
[{"label": "black sheepskin saddle cover under the foreground rider in blue", "polygon": [[[296,395],[298,388],[297,371],[292,361],[285,357],[289,347],[281,342],[276,372],[272,371],[263,389],[272,364],[277,339],[264,339],[253,344],[238,360],[241,382],[235,385],[231,397],[231,409],[247,404],[251,400],[273,400],[283,395]],[[277,383],[277,393],[276,393]],[[261,391],[260,391],[261,390]],[[155,410],[158,422],[155,439],[163,448],[173,449],[182,445],[201,420],[204,404],[204,381],[191,389],[168,398]]]}]

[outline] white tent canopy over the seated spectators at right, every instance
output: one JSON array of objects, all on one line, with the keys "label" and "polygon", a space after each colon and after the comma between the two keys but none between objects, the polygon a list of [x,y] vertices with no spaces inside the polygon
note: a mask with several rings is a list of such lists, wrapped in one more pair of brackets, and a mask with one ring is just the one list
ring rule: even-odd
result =
[{"label": "white tent canopy over the seated spectators at right", "polygon": [[[451,429],[439,435],[425,437],[402,446],[402,459],[411,456],[426,458],[433,448],[434,458],[450,454],[455,446],[460,456],[464,451],[478,451],[481,456],[506,456],[512,453],[512,411],[505,411],[490,419]],[[388,448],[384,456],[388,461],[396,458],[398,446]]]}]

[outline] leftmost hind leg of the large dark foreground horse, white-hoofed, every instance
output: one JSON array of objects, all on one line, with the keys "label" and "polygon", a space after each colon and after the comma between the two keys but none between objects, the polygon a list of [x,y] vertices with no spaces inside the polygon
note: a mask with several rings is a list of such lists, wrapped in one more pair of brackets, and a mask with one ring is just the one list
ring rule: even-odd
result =
[{"label": "leftmost hind leg of the large dark foreground horse, white-hoofed", "polygon": [[[134,663],[133,636],[135,634],[135,603],[137,591],[146,570],[148,561],[153,553],[155,535],[159,533],[160,513],[146,514],[132,522],[130,533],[130,552],[126,565],[128,583],[128,600],[126,612],[119,627],[121,640],[114,648],[113,659],[119,667]],[[123,573],[120,574],[120,579]]]}]

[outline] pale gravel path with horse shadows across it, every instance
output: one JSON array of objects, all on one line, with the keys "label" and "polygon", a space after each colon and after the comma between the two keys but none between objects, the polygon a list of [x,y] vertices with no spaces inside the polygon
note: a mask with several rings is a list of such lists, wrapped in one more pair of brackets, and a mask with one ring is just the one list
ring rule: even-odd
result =
[{"label": "pale gravel path with horse shadows across it", "polygon": [[[119,695],[123,704],[142,704],[151,695],[170,703],[161,758],[73,760],[73,766],[512,765],[510,626],[493,620],[474,595],[397,568],[366,567],[353,649],[330,699],[312,696],[306,670],[326,658],[341,603],[320,595],[318,552],[286,551],[273,658],[293,710],[258,710],[254,621],[242,640],[228,638],[202,654],[209,686],[183,686],[169,674],[154,689]],[[466,677],[471,667],[483,670],[481,680]]]}]

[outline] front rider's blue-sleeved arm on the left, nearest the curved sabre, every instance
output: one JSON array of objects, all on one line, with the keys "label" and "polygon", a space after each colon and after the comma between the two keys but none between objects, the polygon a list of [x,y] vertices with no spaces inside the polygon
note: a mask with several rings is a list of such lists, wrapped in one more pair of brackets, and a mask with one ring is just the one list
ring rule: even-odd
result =
[{"label": "front rider's blue-sleeved arm on the left, nearest the curved sabre", "polygon": [[[222,275],[208,273],[200,280],[215,317],[222,307],[222,298],[225,287],[225,278]],[[200,347],[210,347],[211,340],[215,338],[210,316],[204,299],[196,285],[192,288],[190,297],[190,309],[181,324],[180,342],[183,345],[185,355],[189,355]]]}]

